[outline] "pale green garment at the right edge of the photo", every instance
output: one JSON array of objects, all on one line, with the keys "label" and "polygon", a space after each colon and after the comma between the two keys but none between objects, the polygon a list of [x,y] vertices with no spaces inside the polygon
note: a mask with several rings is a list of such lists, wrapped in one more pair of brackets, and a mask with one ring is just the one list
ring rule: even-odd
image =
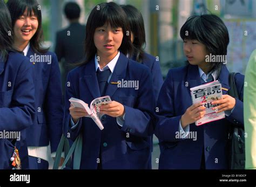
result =
[{"label": "pale green garment at the right edge of the photo", "polygon": [[256,169],[256,50],[252,53],[245,72],[245,168]]}]

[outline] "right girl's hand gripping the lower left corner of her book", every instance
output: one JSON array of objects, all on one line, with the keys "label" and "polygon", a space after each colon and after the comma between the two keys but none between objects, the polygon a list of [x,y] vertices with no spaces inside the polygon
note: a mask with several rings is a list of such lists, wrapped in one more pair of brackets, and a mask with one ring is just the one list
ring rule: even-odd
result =
[{"label": "right girl's hand gripping the lower left corner of her book", "polygon": [[185,114],[183,114],[180,119],[182,128],[185,128],[188,124],[194,123],[204,117],[206,108],[201,105],[202,103],[199,102],[187,108]]}]

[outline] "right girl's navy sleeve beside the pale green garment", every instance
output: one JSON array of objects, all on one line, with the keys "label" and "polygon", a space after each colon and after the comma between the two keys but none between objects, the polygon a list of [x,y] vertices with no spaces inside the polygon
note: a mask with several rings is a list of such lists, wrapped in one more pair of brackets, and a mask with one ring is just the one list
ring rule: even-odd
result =
[{"label": "right girl's navy sleeve beside the pale green garment", "polygon": [[232,113],[226,117],[228,121],[238,126],[244,126],[244,75],[235,75],[235,85],[238,89],[239,98],[235,98],[235,106]]}]

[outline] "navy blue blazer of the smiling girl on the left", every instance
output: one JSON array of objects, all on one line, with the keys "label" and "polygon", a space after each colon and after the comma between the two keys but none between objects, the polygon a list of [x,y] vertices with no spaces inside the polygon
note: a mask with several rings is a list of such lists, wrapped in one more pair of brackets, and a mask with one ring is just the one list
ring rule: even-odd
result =
[{"label": "navy blue blazer of the smiling girl on the left", "polygon": [[[47,52],[42,56],[48,57],[51,61],[43,58],[38,61],[35,52],[29,49],[28,57],[34,61],[30,64],[35,72],[35,108],[36,118],[34,125],[26,129],[26,140],[28,146],[41,147],[48,146],[50,141],[51,152],[57,150],[60,137],[62,136],[63,122],[63,100],[60,84],[60,71],[58,60],[55,53]],[[46,55],[46,56],[45,56]],[[36,59],[36,60],[35,60]],[[35,62],[36,61],[36,62]]]}]

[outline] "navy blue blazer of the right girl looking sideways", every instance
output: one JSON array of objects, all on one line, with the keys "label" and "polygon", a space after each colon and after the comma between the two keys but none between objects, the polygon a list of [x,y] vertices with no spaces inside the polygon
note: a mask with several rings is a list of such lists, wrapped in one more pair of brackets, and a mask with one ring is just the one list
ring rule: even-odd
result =
[{"label": "navy blue blazer of the right girl looking sideways", "polygon": [[[222,87],[230,89],[228,70],[221,67],[218,77]],[[202,126],[190,124],[190,131],[197,133],[197,140],[192,138],[178,139],[181,115],[192,105],[190,88],[201,85],[198,66],[187,65],[173,68],[161,88],[157,107],[159,107],[156,136],[160,140],[161,150],[159,169],[200,169],[202,154],[205,155],[206,169],[227,169],[228,125],[244,125],[243,90],[244,75],[235,76],[239,98],[235,98],[235,107],[230,116]],[[223,90],[223,94],[227,91]]]}]

